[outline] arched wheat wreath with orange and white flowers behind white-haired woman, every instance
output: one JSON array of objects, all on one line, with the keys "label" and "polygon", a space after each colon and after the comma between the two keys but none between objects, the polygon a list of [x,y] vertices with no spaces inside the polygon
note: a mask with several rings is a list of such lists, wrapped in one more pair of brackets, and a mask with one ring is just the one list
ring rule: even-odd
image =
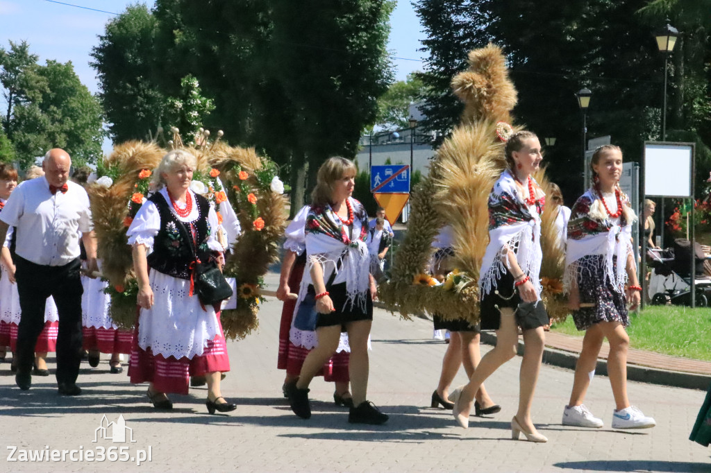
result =
[{"label": "arched wheat wreath with orange and white flowers behind white-haired woman", "polygon": [[286,199],[277,166],[258,156],[254,148],[223,143],[221,131],[210,143],[209,132],[201,130],[193,141],[201,144],[188,146],[177,129],[171,131],[172,139],[166,141],[166,147],[159,146],[156,140],[115,146],[97,165],[96,175],[87,186],[102,277],[109,282],[112,318],[121,328],[134,326],[138,287],[127,228],[151,192],[151,175],[163,156],[171,149],[181,148],[197,158],[193,192],[215,205],[218,220],[222,219],[220,206],[227,202],[240,220],[242,233],[232,245],[224,268],[225,276],[237,281],[237,306],[223,310],[220,321],[225,337],[244,338],[259,326],[260,288],[269,264],[278,259],[278,242],[284,232]]}]

